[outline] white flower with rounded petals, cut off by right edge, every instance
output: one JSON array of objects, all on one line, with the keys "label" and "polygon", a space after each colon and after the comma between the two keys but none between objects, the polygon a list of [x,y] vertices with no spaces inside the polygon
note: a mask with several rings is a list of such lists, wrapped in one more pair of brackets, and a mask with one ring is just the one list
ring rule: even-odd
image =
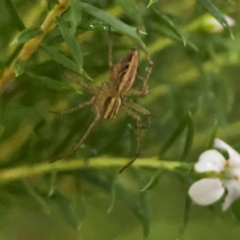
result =
[{"label": "white flower with rounded petals, cut off by right edge", "polygon": [[195,164],[197,172],[215,172],[215,178],[203,178],[195,182],[188,191],[192,200],[199,205],[210,205],[218,201],[227,189],[227,195],[222,205],[226,210],[234,200],[240,197],[240,154],[220,139],[215,139],[215,148],[228,152],[225,160],[217,150],[202,153]]}]

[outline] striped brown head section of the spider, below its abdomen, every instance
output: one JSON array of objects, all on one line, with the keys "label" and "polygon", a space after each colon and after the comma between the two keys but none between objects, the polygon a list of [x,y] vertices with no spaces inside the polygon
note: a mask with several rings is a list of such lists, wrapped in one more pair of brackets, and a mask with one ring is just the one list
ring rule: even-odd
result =
[{"label": "striped brown head section of the spider, below its abdomen", "polygon": [[113,98],[110,96],[107,97],[101,109],[101,116],[105,119],[115,118],[119,111],[121,103],[121,98]]}]

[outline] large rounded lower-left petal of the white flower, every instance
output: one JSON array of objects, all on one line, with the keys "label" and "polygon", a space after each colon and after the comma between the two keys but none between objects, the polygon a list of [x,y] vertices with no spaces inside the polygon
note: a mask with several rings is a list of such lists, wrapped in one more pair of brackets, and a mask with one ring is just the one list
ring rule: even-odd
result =
[{"label": "large rounded lower-left petal of the white flower", "polygon": [[209,205],[219,200],[224,193],[220,179],[203,178],[195,182],[188,190],[188,195],[199,205]]}]

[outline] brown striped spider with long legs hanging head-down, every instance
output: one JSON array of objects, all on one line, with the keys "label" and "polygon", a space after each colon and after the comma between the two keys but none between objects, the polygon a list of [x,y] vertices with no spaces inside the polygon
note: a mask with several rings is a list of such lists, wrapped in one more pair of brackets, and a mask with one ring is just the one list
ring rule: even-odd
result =
[{"label": "brown striped spider with long legs hanging head-down", "polygon": [[[143,50],[144,51],[144,50]],[[124,169],[130,166],[140,154],[140,134],[142,129],[142,121],[139,113],[146,115],[148,119],[147,128],[151,125],[151,113],[141,107],[140,105],[128,101],[124,98],[127,96],[146,96],[148,93],[148,79],[152,72],[153,62],[151,61],[148,53],[144,51],[148,60],[147,74],[144,78],[137,76],[138,62],[139,62],[139,51],[137,48],[132,48],[125,57],[123,57],[116,65],[113,65],[112,61],[112,40],[109,38],[108,43],[108,65],[109,65],[109,81],[102,84],[101,87],[91,86],[83,81],[77,81],[77,83],[87,91],[89,91],[93,97],[85,102],[81,103],[76,107],[64,110],[64,111],[49,111],[58,115],[68,114],[78,111],[84,107],[92,106],[92,111],[95,114],[95,118],[91,125],[88,127],[85,134],[82,136],[80,141],[66,154],[62,157],[65,158],[72,152],[76,151],[88,137],[93,128],[98,124],[101,118],[104,119],[114,119],[121,107],[129,116],[136,120],[137,126],[137,145],[134,157],[127,163],[120,171],[121,173]],[[142,81],[141,90],[136,90],[132,88],[136,78],[139,77]]]}]

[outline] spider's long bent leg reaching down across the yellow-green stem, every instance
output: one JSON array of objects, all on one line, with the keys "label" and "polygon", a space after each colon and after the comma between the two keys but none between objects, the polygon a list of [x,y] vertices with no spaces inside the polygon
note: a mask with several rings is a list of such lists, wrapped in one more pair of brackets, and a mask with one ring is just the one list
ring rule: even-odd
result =
[{"label": "spider's long bent leg reaching down across the yellow-green stem", "polygon": [[132,158],[132,160],[130,162],[128,162],[125,166],[123,166],[123,168],[119,171],[119,173],[122,173],[127,167],[132,165],[133,162],[138,158],[138,156],[140,154],[140,135],[141,135],[141,127],[142,127],[141,117],[137,113],[135,113],[133,110],[131,110],[127,106],[123,106],[123,109],[127,112],[127,114],[129,116],[134,118],[137,122],[137,135],[136,135],[136,137],[137,137],[137,147],[136,147],[135,155]]}]

